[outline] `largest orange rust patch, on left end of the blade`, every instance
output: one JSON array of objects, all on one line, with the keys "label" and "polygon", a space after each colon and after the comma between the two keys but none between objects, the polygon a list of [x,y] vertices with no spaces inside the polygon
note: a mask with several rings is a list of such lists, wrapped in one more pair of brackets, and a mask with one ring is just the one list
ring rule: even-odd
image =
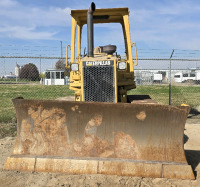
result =
[{"label": "largest orange rust patch, on left end of the blade", "polygon": [[[14,154],[58,155],[66,150],[68,131],[63,109],[29,108],[21,123],[20,145]],[[58,146],[59,145],[59,146]]]}]

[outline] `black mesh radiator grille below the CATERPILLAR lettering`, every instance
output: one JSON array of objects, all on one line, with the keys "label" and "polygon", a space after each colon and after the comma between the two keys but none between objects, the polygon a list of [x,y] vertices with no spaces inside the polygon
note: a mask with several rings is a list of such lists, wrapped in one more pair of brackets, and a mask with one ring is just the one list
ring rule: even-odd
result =
[{"label": "black mesh radiator grille below the CATERPILLAR lettering", "polygon": [[83,67],[84,100],[115,102],[113,66]]}]

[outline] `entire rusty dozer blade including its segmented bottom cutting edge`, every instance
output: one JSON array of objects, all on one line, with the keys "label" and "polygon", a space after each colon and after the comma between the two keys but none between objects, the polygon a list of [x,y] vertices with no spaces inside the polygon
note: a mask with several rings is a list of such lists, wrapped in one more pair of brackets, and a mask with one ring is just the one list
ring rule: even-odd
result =
[{"label": "entire rusty dozer blade including its segmented bottom cutting edge", "polygon": [[184,153],[189,107],[13,100],[4,170],[194,179]]}]

